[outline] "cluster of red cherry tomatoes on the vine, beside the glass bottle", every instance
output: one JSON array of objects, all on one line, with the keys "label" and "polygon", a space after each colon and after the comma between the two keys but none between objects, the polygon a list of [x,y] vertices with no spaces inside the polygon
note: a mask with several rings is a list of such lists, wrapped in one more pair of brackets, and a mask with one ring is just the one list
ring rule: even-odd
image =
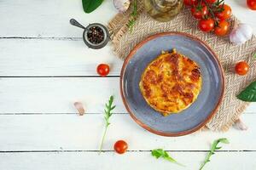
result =
[{"label": "cluster of red cherry tomatoes on the vine, beside the glass bottle", "polygon": [[230,30],[227,20],[230,19],[231,8],[223,1],[184,0],[183,3],[191,8],[191,14],[199,20],[198,27],[201,31],[213,31],[217,36],[224,36]]}]

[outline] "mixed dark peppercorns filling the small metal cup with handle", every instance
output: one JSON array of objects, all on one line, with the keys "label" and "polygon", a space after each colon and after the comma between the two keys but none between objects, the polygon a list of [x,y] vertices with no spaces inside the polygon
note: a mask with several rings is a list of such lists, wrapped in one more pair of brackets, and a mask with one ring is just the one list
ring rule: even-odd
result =
[{"label": "mixed dark peppercorns filling the small metal cup with handle", "polygon": [[99,26],[91,26],[87,33],[87,37],[91,43],[98,44],[104,40],[104,32]]}]

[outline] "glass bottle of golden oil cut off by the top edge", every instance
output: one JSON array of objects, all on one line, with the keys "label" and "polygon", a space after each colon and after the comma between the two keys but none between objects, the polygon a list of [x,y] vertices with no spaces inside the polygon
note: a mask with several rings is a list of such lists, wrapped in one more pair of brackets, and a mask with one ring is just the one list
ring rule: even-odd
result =
[{"label": "glass bottle of golden oil cut off by the top edge", "polygon": [[183,0],[144,0],[148,14],[161,22],[172,20],[183,8]]}]

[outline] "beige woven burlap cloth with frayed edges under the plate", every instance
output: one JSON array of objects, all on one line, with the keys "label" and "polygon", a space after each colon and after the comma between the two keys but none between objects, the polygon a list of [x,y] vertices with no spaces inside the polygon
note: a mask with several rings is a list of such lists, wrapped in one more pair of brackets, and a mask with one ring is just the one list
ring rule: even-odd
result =
[{"label": "beige woven burlap cloth with frayed edges under the plate", "polygon": [[[229,37],[217,37],[212,33],[203,33],[197,28],[197,21],[191,16],[189,9],[185,8],[172,21],[162,23],[151,19],[143,10],[143,4],[138,3],[138,17],[136,25],[132,32],[128,31],[126,26],[129,20],[131,9],[125,14],[117,14],[108,24],[108,30],[111,33],[113,51],[121,59],[125,59],[127,54],[134,48],[138,42],[146,37],[163,31],[181,31],[201,38],[207,42],[218,55],[218,59],[224,68],[225,92],[224,99],[213,116],[207,123],[207,127],[213,131],[226,131],[236,122],[248,105],[236,99],[236,95],[241,89],[247,87],[256,77],[256,62],[253,60],[253,54],[256,52],[256,37],[247,41],[243,45],[234,45],[229,41]],[[230,19],[231,29],[239,21],[235,16]],[[234,65],[239,60],[246,60],[250,65],[250,71],[247,76],[238,76],[234,74]]]}]

